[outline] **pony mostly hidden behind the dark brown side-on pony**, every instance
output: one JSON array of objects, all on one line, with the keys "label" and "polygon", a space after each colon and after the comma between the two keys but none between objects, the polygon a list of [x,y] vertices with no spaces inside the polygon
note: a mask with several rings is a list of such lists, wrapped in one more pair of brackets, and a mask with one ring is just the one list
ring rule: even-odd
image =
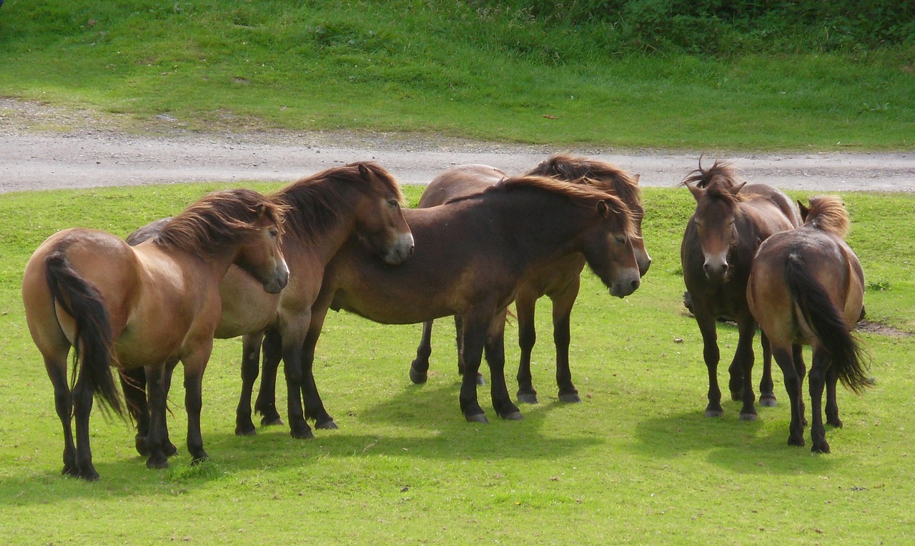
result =
[{"label": "pony mostly hidden behind the dark brown side-on pony", "polygon": [[[557,153],[533,168],[529,175],[551,176],[558,180],[590,184],[619,196],[632,213],[636,236],[632,239],[639,273],[645,275],[651,266],[651,257],[645,250],[641,237],[641,220],[645,215],[641,205],[639,176],[632,176],[618,167],[605,162]],[[450,199],[478,194],[497,184],[507,174],[487,165],[459,165],[439,174],[426,187],[419,200],[420,208],[441,205]],[[575,305],[580,287],[581,271],[585,268],[585,257],[577,254],[544,263],[532,268],[518,286],[515,298],[518,319],[518,343],[521,347],[521,363],[518,367],[519,402],[537,404],[537,392],[533,388],[531,374],[531,352],[536,342],[534,311],[537,299],[548,296],[553,302],[553,340],[556,351],[556,384],[559,399],[564,402],[580,402],[578,391],[572,383],[569,369],[568,349],[569,325],[572,307]],[[457,319],[457,318],[456,318]],[[458,320],[459,322],[459,320]],[[425,383],[432,353],[432,320],[427,320],[423,337],[416,348],[416,358],[410,367],[410,378],[414,383]],[[460,328],[458,327],[458,373],[463,373],[461,358]],[[481,381],[481,378],[478,378]]]}]

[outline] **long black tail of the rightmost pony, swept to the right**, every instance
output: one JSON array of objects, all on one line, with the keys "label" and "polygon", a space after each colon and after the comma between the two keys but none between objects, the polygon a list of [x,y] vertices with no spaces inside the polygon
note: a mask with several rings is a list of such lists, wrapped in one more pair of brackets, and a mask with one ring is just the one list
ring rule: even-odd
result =
[{"label": "long black tail of the rightmost pony, swept to the right", "polygon": [[785,280],[804,320],[832,356],[833,368],[842,384],[857,394],[872,386],[874,382],[866,374],[867,353],[849,331],[825,289],[807,271],[802,257],[796,254],[788,257]]}]

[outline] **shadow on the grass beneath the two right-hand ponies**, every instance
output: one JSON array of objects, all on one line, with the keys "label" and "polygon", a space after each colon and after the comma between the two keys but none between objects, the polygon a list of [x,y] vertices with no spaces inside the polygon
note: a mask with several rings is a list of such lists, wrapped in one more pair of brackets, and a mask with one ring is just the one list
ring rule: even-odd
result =
[{"label": "shadow on the grass beneath the two right-hand ponies", "polygon": [[739,402],[724,406],[723,417],[705,417],[696,410],[644,419],[636,425],[634,441],[628,448],[641,457],[705,455],[708,463],[740,474],[829,472],[841,464],[828,456],[811,457],[809,438],[807,446],[788,446],[786,427],[763,421],[775,420],[768,410],[759,416],[759,421],[740,421]]}]

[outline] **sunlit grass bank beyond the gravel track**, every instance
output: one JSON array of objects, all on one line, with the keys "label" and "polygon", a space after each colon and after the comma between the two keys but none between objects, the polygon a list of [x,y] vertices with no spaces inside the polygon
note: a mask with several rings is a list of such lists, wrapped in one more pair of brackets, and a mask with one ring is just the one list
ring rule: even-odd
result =
[{"label": "sunlit grass bank beyond the gravel track", "polygon": [[607,32],[474,2],[8,0],[0,95],[124,113],[145,129],[694,150],[913,145],[911,47],[648,55],[608,48]]}]

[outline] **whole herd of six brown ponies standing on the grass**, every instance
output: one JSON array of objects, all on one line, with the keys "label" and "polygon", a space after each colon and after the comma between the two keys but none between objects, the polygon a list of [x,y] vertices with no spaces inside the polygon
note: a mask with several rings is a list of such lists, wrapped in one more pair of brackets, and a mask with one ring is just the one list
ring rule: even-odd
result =
[{"label": "whole herd of six brown ponies standing on the grass", "polygon": [[[684,234],[684,280],[705,342],[706,415],[722,415],[716,320],[737,321],[730,392],[740,416],[755,418],[752,338],[762,330],[761,404],[774,404],[770,357],[791,401],[789,444],[803,445],[801,344],[813,345],[810,370],[813,450],[828,452],[826,423],[839,426],[835,385],[860,391],[869,379],[849,331],[862,309],[864,280],[845,244],[845,208],[816,197],[798,211],[778,190],[738,184],[725,163],[700,167],[684,184],[696,210]],[[503,419],[521,419],[505,382],[507,308],[517,309],[522,361],[520,402],[536,403],[530,356],[537,299],[553,302],[560,400],[579,397],[569,370],[569,316],[587,265],[619,298],[640,286],[651,265],[641,237],[638,176],[565,154],[508,176],[485,165],[448,169],[418,208],[405,208],[393,176],[375,163],[351,163],[289,184],[204,196],[178,215],[138,229],[126,241],[91,229],[61,231],[29,259],[22,286],[32,339],[54,388],[63,427],[63,473],[92,480],[89,417],[93,398],[136,423],[135,447],[147,467],[177,452],[167,429],[171,375],[183,364],[192,462],[206,459],[200,434],[202,377],[214,338],[242,336],[242,394],[235,432],[282,423],[275,407],[284,362],[292,436],[308,425],[336,428],[312,373],[328,310],[387,324],[425,323],[410,367],[424,383],[432,321],[453,316],[458,332],[460,410],[486,423],[477,399],[482,358]],[[68,379],[68,356],[73,369]],[[111,368],[118,370],[123,404]],[[75,435],[72,422],[75,417]],[[75,437],[74,437],[75,436]]]}]

